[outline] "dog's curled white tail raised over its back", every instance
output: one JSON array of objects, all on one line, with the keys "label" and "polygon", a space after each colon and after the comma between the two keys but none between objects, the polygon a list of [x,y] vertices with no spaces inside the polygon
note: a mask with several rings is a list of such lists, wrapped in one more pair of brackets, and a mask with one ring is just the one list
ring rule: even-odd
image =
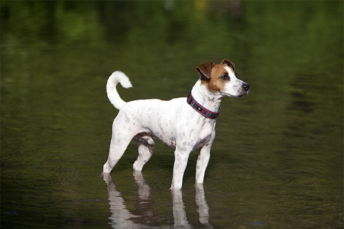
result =
[{"label": "dog's curled white tail raised over its back", "polygon": [[106,83],[106,93],[108,95],[108,98],[111,102],[111,104],[120,110],[122,106],[126,103],[123,101],[120,96],[118,95],[116,85],[117,83],[120,83],[122,87],[129,88],[132,87],[132,83],[130,82],[129,78],[121,71],[115,71],[113,72],[107,83]]}]

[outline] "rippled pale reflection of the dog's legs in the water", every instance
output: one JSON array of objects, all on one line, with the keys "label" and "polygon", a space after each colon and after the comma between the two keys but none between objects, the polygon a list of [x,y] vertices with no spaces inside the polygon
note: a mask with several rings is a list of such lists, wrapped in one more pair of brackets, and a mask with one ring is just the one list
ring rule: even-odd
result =
[{"label": "rippled pale reflection of the dog's legs in the water", "polygon": [[[154,200],[151,195],[151,189],[146,184],[142,173],[134,171],[134,179],[138,185],[139,204],[136,210],[127,210],[124,200],[120,192],[117,191],[116,185],[112,181],[110,174],[103,174],[104,181],[106,182],[109,195],[109,204],[111,216],[110,224],[113,228],[142,228],[147,227],[149,224],[154,223]],[[191,223],[188,222],[185,212],[185,205],[183,202],[182,191],[171,191],[173,201],[173,216],[175,228],[191,228]],[[202,227],[211,228],[209,224],[209,208],[205,201],[203,185],[196,185],[195,201],[197,205],[197,212],[199,215],[199,222],[203,224]],[[151,223],[150,223],[151,222]],[[165,225],[169,228],[168,225]]]}]

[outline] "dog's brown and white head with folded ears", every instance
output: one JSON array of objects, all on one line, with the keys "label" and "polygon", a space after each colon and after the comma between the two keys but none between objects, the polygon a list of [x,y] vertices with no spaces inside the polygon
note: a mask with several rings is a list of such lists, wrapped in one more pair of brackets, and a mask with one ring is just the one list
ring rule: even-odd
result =
[{"label": "dog's brown and white head with folded ears", "polygon": [[208,62],[197,66],[201,82],[206,84],[209,91],[223,96],[241,97],[248,93],[249,84],[238,79],[234,70],[235,64],[224,59],[220,64]]}]

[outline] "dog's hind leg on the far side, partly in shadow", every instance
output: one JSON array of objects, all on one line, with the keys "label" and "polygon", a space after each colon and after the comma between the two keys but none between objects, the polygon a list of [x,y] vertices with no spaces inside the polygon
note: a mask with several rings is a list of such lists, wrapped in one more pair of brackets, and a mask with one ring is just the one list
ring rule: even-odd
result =
[{"label": "dog's hind leg on the far side, partly in shadow", "polygon": [[143,166],[151,158],[154,151],[154,140],[151,136],[137,136],[135,140],[139,146],[139,156],[133,164],[136,171],[142,171]]}]

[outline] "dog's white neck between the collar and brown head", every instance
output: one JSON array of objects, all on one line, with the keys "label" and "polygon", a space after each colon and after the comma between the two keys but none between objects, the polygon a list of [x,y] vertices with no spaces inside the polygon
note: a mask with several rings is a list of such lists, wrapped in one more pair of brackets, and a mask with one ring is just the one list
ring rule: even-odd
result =
[{"label": "dog's white neck between the collar and brown head", "polygon": [[192,87],[191,94],[204,108],[213,112],[217,112],[220,109],[223,96],[209,91],[206,83],[201,82],[201,78]]}]

